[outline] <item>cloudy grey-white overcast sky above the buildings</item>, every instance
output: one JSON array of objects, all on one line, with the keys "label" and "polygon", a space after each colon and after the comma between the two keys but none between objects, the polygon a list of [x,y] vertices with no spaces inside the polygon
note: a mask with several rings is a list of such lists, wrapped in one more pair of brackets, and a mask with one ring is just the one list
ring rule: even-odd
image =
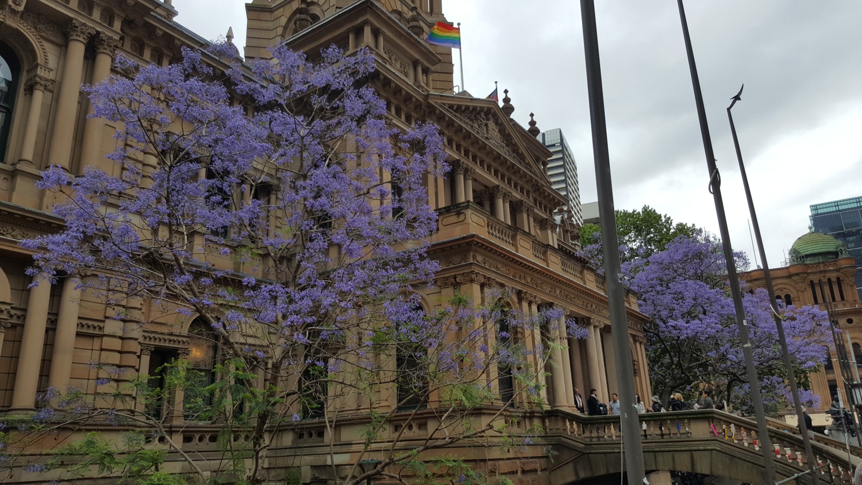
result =
[{"label": "cloudy grey-white overcast sky above the buildings", "polygon": [[[233,26],[242,0],[174,0],[177,22],[207,39]],[[729,98],[770,265],[809,225],[809,204],[862,196],[862,2],[750,0],[686,4],[734,247],[752,253],[730,137]],[[465,87],[499,81],[526,126],[560,127],[578,162],[581,200],[596,200],[579,3],[444,0],[461,22]],[[717,233],[676,2],[596,6],[616,208],[647,204]],[[457,54],[456,54],[457,57]],[[456,65],[456,83],[458,80]],[[753,258],[752,258],[753,259]]]}]

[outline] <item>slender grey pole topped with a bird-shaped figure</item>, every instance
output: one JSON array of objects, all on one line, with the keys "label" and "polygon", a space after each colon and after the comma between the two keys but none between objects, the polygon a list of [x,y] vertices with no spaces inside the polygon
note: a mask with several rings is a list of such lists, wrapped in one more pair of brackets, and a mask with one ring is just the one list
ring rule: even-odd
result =
[{"label": "slender grey pole topped with a bird-shaped figure", "polygon": [[[745,84],[742,84],[742,88]],[[796,420],[799,422],[799,432],[803,435],[803,447],[805,448],[805,458],[809,463],[809,471],[811,471],[812,483],[816,485],[817,474],[814,473],[814,451],[811,450],[811,440],[809,438],[809,429],[805,424],[805,414],[803,413],[803,403],[799,399],[799,386],[796,384],[796,372],[793,370],[793,361],[790,359],[790,351],[787,348],[787,338],[784,336],[784,320],[781,314],[778,313],[778,304],[775,301],[775,288],[772,286],[772,276],[769,270],[769,263],[766,262],[766,251],[763,247],[763,237],[760,234],[760,224],[757,219],[757,211],[754,210],[754,201],[752,199],[751,187],[748,185],[748,176],[746,175],[746,165],[742,162],[742,151],[740,150],[740,140],[736,137],[736,127],[734,126],[734,115],[731,115],[730,109],[734,107],[737,101],[742,100],[742,88],[728,106],[728,121],[730,121],[730,133],[734,135],[734,148],[736,149],[736,159],[740,162],[740,174],[742,175],[742,186],[746,190],[746,200],[748,201],[748,212],[751,214],[751,226],[749,230],[754,229],[754,239],[757,241],[758,252],[760,253],[760,264],[763,265],[763,277],[766,283],[766,292],[769,294],[769,302],[772,308],[772,316],[775,319],[775,327],[778,330],[778,343],[781,345],[781,357],[784,358],[784,366],[787,368],[787,380],[790,382],[790,394],[793,395],[793,406],[796,407]],[[755,254],[755,258],[757,255]]]}]

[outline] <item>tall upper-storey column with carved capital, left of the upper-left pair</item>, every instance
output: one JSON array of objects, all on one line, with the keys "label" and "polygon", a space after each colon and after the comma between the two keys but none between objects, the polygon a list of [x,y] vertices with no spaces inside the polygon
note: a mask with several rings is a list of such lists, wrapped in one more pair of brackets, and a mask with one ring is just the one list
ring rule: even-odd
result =
[{"label": "tall upper-storey column with carved capital, left of the upper-left pair", "polygon": [[84,67],[84,46],[95,32],[89,25],[72,20],[66,28],[66,58],[57,95],[57,109],[53,118],[51,149],[47,165],[59,165],[66,170],[72,162],[72,135],[81,92],[81,71]]}]

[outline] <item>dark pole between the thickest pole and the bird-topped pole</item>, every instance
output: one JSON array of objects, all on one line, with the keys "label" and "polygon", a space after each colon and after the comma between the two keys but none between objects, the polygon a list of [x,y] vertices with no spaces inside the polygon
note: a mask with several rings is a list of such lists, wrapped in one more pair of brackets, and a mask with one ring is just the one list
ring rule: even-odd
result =
[{"label": "dark pole between the thickest pole and the bird-topped pole", "polygon": [[[728,279],[730,294],[734,300],[736,310],[736,325],[740,328],[740,342],[742,353],[746,358],[746,371],[748,374],[748,386],[751,389],[754,417],[757,419],[758,438],[760,439],[760,452],[763,454],[764,482],[775,483],[775,465],[772,463],[773,452],[769,440],[769,428],[766,426],[766,416],[763,410],[763,397],[760,395],[760,382],[757,369],[754,367],[754,354],[751,342],[748,340],[748,324],[746,314],[742,308],[742,294],[740,292],[740,281],[736,276],[736,265],[734,263],[734,249],[730,246],[730,232],[728,231],[728,220],[724,214],[724,202],[721,199],[721,176],[718,167],[715,166],[715,155],[712,151],[712,140],[709,138],[709,126],[706,120],[706,109],[703,107],[703,94],[700,89],[700,81],[697,78],[697,67],[695,65],[695,54],[691,48],[688,22],[685,22],[685,10],[683,0],[677,0],[679,8],[679,20],[683,25],[683,37],[685,39],[685,52],[689,58],[689,70],[691,72],[691,84],[695,92],[695,103],[697,106],[697,118],[700,120],[701,136],[703,138],[703,151],[706,154],[706,165],[709,169],[709,191],[712,192],[715,202],[715,215],[718,217],[719,233],[721,235],[721,246],[724,249],[725,264],[728,268]],[[601,216],[600,216],[601,217]]]}]

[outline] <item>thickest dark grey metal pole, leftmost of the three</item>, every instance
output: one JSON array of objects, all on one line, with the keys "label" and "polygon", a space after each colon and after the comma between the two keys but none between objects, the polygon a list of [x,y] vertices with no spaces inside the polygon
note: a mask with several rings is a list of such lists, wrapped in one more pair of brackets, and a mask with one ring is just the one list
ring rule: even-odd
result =
[{"label": "thickest dark grey metal pole, leftmost of the three", "polygon": [[590,121],[592,124],[593,159],[596,165],[598,189],[598,214],[602,220],[602,245],[604,247],[604,275],[608,289],[611,337],[614,341],[616,380],[619,385],[620,428],[623,451],[626,459],[628,485],[643,485],[647,482],[644,471],[643,450],[640,445],[640,422],[634,407],[634,370],[632,354],[628,346],[628,322],[626,320],[625,289],[622,288],[619,241],[616,237],[614,212],[614,190],[610,177],[608,153],[608,130],[604,118],[604,94],[602,90],[602,65],[598,53],[596,31],[596,7],[593,0],[581,0],[581,23],[584,28],[584,60],[587,71],[587,90],[590,96]]}]

